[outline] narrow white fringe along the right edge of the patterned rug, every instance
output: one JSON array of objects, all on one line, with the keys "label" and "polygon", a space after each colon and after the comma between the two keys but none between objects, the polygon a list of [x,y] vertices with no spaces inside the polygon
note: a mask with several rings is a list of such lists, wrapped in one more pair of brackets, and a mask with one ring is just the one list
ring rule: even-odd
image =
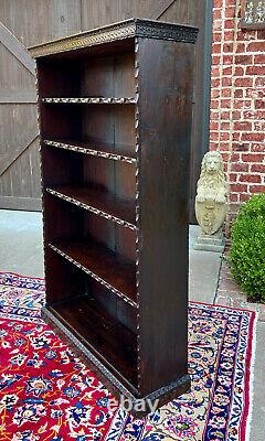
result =
[{"label": "narrow white fringe along the right edge of the patterned rug", "polygon": [[257,343],[257,321],[258,321],[258,312],[255,313],[255,319],[254,319],[254,323],[253,323],[252,357],[251,357],[251,366],[250,366],[250,410],[248,410],[248,416],[247,416],[247,421],[246,421],[245,441],[251,441],[253,401],[254,401],[256,343]]}]

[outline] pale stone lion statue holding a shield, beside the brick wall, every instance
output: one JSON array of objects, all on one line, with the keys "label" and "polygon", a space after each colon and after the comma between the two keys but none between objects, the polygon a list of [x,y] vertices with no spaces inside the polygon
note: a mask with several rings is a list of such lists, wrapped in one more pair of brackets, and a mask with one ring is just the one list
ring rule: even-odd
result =
[{"label": "pale stone lion statue holding a shield, beside the brick wall", "polygon": [[224,178],[223,159],[216,152],[208,152],[202,160],[198,181],[195,215],[201,232],[195,249],[222,251],[224,248],[223,223],[226,216],[227,185]]}]

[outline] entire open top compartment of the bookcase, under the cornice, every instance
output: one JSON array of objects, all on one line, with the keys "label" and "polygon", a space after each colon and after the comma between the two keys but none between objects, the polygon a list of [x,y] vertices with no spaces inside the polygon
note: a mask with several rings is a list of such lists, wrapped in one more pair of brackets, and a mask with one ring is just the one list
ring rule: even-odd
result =
[{"label": "entire open top compartment of the bookcase, under the cornice", "polygon": [[115,55],[41,60],[39,78],[43,98],[134,96],[134,46]]}]

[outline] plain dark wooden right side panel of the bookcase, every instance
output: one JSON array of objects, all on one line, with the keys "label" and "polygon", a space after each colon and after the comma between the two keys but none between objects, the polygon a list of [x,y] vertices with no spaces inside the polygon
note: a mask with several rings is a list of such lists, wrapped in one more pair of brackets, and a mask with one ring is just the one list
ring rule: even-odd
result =
[{"label": "plain dark wooden right side panel of the bookcase", "polygon": [[139,375],[144,396],[188,373],[194,45],[138,39]]}]

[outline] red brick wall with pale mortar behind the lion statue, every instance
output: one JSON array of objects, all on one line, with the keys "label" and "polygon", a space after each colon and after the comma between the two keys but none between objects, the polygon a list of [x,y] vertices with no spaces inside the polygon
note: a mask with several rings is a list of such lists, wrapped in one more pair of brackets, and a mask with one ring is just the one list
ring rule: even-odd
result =
[{"label": "red brick wall with pale mortar behind the lion statue", "polygon": [[265,191],[265,31],[240,29],[241,0],[213,3],[210,150],[225,161],[233,216]]}]

